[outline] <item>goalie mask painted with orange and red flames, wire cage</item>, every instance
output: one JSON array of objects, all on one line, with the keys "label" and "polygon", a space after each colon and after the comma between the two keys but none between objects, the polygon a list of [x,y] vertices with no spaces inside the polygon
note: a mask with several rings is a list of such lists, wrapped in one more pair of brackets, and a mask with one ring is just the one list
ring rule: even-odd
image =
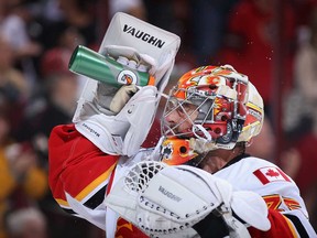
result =
[{"label": "goalie mask painted with orange and red flames, wire cage", "polygon": [[231,150],[259,134],[263,119],[263,100],[248,76],[230,65],[195,68],[170,93],[162,120],[163,162],[198,163],[208,151]]}]

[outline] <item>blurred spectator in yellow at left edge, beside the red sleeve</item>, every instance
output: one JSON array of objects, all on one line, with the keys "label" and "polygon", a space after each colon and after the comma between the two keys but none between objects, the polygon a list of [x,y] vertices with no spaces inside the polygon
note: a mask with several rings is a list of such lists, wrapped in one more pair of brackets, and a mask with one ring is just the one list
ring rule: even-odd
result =
[{"label": "blurred spectator in yellow at left edge, beside the red sleeve", "polygon": [[[29,144],[17,143],[10,134],[10,121],[0,112],[0,221],[8,210],[33,204],[47,193],[47,175],[39,166]],[[14,193],[19,197],[14,197]],[[0,224],[0,237],[6,237]]]}]

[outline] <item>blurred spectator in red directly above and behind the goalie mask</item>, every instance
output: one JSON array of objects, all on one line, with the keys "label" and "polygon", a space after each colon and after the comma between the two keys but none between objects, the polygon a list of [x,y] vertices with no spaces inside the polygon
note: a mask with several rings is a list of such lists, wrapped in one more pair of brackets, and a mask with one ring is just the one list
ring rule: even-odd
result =
[{"label": "blurred spectator in red directly above and behind the goalie mask", "polygon": [[[295,37],[294,12],[289,1],[283,1],[283,86],[292,83],[292,46]],[[273,88],[274,41],[276,39],[273,0],[241,0],[231,11],[228,21],[226,46],[220,62],[236,66],[253,78],[254,86],[263,97],[266,113],[271,117]]]}]

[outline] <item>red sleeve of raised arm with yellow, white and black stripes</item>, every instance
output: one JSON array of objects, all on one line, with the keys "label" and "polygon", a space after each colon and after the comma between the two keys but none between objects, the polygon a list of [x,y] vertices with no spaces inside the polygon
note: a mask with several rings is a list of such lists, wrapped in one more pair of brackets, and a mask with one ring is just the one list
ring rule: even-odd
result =
[{"label": "red sleeve of raised arm with yellow, white and black stripes", "polygon": [[55,127],[48,140],[48,182],[54,198],[66,210],[65,193],[87,201],[85,205],[90,208],[98,206],[118,159],[100,151],[74,125]]}]

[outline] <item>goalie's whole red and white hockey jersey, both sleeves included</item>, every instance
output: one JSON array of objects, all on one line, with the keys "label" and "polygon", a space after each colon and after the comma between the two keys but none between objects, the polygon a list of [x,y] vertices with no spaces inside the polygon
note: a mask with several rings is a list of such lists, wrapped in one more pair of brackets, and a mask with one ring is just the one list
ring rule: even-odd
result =
[{"label": "goalie's whole red and white hockey jersey, both sleeves included", "polygon": [[[53,196],[67,213],[106,230],[108,238],[145,238],[135,226],[107,208],[103,199],[129,165],[151,159],[152,151],[140,150],[133,158],[105,154],[74,125],[57,126],[48,141]],[[296,184],[276,165],[252,156],[236,158],[215,175],[237,191],[259,193],[266,202],[271,229],[264,232],[249,227],[252,237],[317,237]]]}]

